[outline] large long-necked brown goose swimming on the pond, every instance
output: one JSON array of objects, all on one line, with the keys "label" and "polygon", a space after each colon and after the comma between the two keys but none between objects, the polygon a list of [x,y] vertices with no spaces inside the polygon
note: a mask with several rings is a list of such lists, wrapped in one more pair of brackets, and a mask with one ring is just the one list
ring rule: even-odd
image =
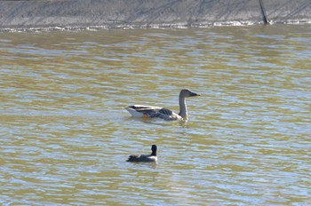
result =
[{"label": "large long-necked brown goose swimming on the pond", "polygon": [[200,96],[193,91],[183,89],[179,93],[179,114],[172,112],[170,109],[163,107],[148,107],[143,105],[133,105],[125,107],[125,109],[136,117],[158,117],[166,121],[172,120],[187,120],[187,105],[186,98]]}]

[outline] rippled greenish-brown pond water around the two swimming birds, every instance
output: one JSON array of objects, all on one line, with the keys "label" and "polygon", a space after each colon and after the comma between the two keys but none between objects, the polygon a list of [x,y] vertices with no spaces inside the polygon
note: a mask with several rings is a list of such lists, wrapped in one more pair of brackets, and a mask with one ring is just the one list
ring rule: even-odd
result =
[{"label": "rippled greenish-brown pond water around the two swimming birds", "polygon": [[[0,33],[0,203],[310,205],[310,48],[309,25]],[[186,123],[124,110],[182,88]]]}]

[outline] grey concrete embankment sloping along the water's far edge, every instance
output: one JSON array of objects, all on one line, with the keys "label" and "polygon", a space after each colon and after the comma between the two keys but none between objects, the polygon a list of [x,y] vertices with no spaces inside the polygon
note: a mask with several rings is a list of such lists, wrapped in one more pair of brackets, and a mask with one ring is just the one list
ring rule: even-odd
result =
[{"label": "grey concrete embankment sloping along the water's far edge", "polygon": [[0,29],[310,23],[310,0],[0,1]]}]

